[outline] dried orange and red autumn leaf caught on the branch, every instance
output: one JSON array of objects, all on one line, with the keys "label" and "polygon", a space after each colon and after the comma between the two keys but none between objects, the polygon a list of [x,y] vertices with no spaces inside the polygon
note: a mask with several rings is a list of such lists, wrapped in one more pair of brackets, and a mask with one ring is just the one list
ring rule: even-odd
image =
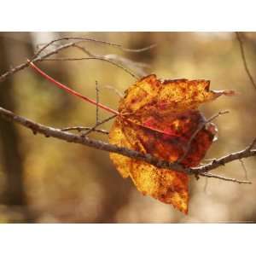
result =
[{"label": "dried orange and red autumn leaf caught on the branch", "polygon": [[[152,154],[161,160],[181,161],[183,166],[197,166],[207,153],[216,133],[213,124],[199,131],[186,152],[189,139],[205,122],[198,107],[233,91],[209,90],[207,80],[166,80],[149,75],[125,91],[119,103],[119,115],[109,133],[109,142]],[[131,177],[143,195],[172,204],[188,213],[189,177],[185,173],[160,169],[142,160],[110,154],[123,177]]]}]

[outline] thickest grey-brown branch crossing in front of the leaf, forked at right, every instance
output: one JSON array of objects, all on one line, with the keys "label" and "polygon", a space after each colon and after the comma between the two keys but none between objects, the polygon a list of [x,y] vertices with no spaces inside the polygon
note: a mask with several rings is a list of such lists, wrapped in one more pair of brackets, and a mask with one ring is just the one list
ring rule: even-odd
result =
[{"label": "thickest grey-brown branch crossing in front of the leaf, forked at right", "polygon": [[45,137],[55,137],[55,138],[61,139],[63,141],[69,142],[69,143],[79,143],[79,144],[88,146],[90,148],[97,148],[97,149],[108,151],[108,152],[122,154],[122,155],[128,156],[133,159],[143,160],[143,161],[147,162],[148,164],[151,164],[151,165],[159,167],[159,168],[166,168],[166,169],[170,169],[170,170],[175,170],[177,172],[184,172],[184,173],[187,173],[188,175],[196,174],[196,175],[201,175],[201,176],[205,176],[205,177],[216,177],[219,179],[236,182],[236,183],[237,182],[238,183],[250,183],[250,182],[238,181],[236,179],[230,179],[229,177],[219,177],[217,175],[213,175],[212,173],[206,173],[206,172],[209,172],[209,171],[217,168],[218,166],[224,166],[224,164],[227,164],[231,161],[239,160],[242,158],[247,158],[247,157],[256,155],[256,149],[245,148],[245,149],[241,150],[240,152],[228,154],[218,160],[214,160],[214,161],[212,161],[212,163],[210,163],[208,165],[198,166],[195,168],[185,168],[185,167],[177,164],[176,162],[171,163],[166,160],[160,160],[150,154],[143,154],[141,152],[131,150],[129,148],[118,147],[116,145],[105,143],[100,140],[95,140],[95,139],[92,139],[89,137],[81,137],[79,135],[75,135],[75,134],[69,133],[67,131],[61,131],[61,129],[55,129],[55,128],[52,128],[52,127],[49,127],[46,125],[41,125],[39,123],[33,122],[30,119],[26,119],[24,117],[16,115],[15,113],[12,113],[11,111],[1,108],[1,107],[0,107],[0,115],[4,119],[8,119],[10,121],[15,121],[15,123],[25,126],[26,128],[32,130],[34,134],[41,133],[41,134],[44,134]]}]

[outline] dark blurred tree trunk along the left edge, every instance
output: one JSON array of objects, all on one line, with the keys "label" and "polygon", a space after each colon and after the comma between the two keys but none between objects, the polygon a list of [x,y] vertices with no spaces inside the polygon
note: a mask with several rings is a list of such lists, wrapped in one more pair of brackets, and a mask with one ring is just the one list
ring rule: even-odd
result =
[{"label": "dark blurred tree trunk along the left edge", "polygon": [[[29,33],[19,33],[21,42],[16,41],[14,33],[2,32],[0,37],[0,72],[7,71],[12,63],[15,52],[26,49],[26,54],[32,55]],[[29,44],[27,44],[29,43]],[[19,46],[20,45],[20,46]],[[25,46],[25,47],[24,47]],[[15,112],[15,96],[13,78],[0,84],[0,106]],[[22,212],[21,219],[10,219],[11,222],[31,222],[26,204],[26,189],[23,183],[23,161],[19,151],[20,136],[12,122],[0,119],[0,163],[5,174],[5,186],[1,196],[1,204]]]}]

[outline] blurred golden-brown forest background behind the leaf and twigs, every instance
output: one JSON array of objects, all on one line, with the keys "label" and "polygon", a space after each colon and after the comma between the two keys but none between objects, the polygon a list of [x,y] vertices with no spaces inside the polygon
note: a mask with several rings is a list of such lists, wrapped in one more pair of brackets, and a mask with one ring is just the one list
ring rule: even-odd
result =
[{"label": "blurred golden-brown forest background behind the leaf and twigs", "polygon": [[[245,73],[239,44],[233,32],[0,32],[0,72],[32,57],[38,44],[62,36],[83,36],[143,48],[124,52],[104,44],[83,43],[96,55],[108,55],[140,75],[156,73],[161,79],[209,79],[211,88],[236,90],[238,96],[220,97],[202,106],[206,117],[229,109],[214,121],[218,141],[206,159],[245,148],[255,134],[256,90]],[[256,33],[243,33],[248,65],[256,71]],[[58,56],[81,56],[67,49]],[[110,56],[109,56],[110,55]],[[125,59],[123,59],[125,58]],[[131,62],[139,62],[137,66]],[[129,64],[130,63],[130,64]],[[142,64],[144,63],[144,64]],[[127,66],[128,65],[128,66]],[[85,96],[118,108],[119,96],[135,82],[124,70],[106,61],[44,61],[46,73]],[[49,84],[26,68],[0,86],[0,106],[44,125],[93,126],[96,108]],[[108,113],[100,111],[100,119]],[[102,125],[109,129],[113,121]],[[105,135],[90,137],[108,140]],[[0,119],[0,223],[230,223],[256,221],[256,162],[244,160],[253,184],[238,184],[190,177],[189,215],[143,196],[123,179],[108,153],[33,135],[24,127]],[[239,160],[214,170],[226,177],[244,179]]]}]

